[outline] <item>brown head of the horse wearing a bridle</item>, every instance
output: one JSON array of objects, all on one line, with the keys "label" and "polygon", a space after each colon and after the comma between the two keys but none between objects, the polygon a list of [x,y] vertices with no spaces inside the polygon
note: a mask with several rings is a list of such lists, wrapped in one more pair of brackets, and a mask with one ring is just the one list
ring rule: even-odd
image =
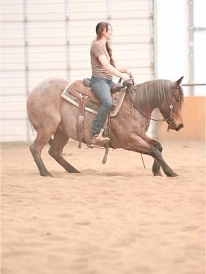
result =
[{"label": "brown head of the horse wearing a bridle", "polygon": [[182,80],[183,76],[174,82],[170,101],[167,103],[165,103],[165,101],[162,102],[159,108],[163,118],[168,123],[168,130],[174,129],[179,131],[179,129],[184,126],[181,112],[183,102],[183,89],[181,87]]}]

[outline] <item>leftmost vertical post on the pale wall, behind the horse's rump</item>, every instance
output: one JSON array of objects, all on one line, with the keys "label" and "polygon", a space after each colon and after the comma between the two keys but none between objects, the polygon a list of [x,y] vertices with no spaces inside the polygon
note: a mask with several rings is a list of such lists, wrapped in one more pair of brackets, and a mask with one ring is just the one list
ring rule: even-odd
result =
[{"label": "leftmost vertical post on the pale wall, behind the horse's rump", "polygon": [[[28,19],[27,19],[27,0],[23,0],[23,39],[24,39],[24,58],[25,58],[25,91],[26,96],[30,92],[29,79],[29,53],[28,53]],[[30,141],[30,123],[26,120],[27,141]]]}]

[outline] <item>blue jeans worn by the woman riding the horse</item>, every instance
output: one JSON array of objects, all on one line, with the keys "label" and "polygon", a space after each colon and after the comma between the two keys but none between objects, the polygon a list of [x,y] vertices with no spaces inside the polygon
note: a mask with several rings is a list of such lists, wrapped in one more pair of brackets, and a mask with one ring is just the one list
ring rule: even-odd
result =
[{"label": "blue jeans worn by the woman riding the horse", "polygon": [[93,135],[100,133],[100,130],[104,125],[104,121],[106,120],[106,116],[113,106],[113,98],[110,91],[113,85],[115,85],[115,83],[110,79],[91,77],[91,88],[102,103],[98,111],[98,115],[93,121]]}]

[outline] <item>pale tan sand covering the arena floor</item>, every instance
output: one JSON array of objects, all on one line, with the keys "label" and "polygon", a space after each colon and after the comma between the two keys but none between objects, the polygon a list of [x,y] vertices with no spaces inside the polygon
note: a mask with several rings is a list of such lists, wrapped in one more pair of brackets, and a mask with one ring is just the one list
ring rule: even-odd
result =
[{"label": "pale tan sand covering the arena floor", "polygon": [[1,145],[2,274],[203,274],[205,144],[162,142],[179,177],[153,177],[152,158],[111,150],[48,154],[41,177],[28,144]]}]

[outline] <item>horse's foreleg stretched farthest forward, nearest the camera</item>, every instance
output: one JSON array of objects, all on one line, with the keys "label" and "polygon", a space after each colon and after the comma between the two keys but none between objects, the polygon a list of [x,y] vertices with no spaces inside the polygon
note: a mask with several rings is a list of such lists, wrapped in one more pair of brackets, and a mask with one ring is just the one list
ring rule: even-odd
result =
[{"label": "horse's foreleg stretched farthest forward, nearest the camera", "polygon": [[161,168],[163,169],[165,175],[168,177],[176,177],[178,176],[172,169],[170,169],[170,166],[163,160],[163,157],[161,155],[161,152],[155,145],[152,145],[145,140],[141,138],[134,138],[133,140],[129,140],[128,147],[130,150],[137,151],[139,153],[144,153],[151,155],[157,162],[160,164]]}]

